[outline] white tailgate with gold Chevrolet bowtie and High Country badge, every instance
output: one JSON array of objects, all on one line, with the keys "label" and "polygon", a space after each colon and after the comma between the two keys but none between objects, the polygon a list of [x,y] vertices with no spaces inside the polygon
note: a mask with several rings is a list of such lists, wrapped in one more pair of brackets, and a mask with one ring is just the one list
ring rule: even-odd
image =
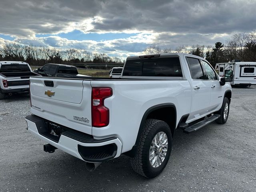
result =
[{"label": "white tailgate with gold Chevrolet bowtie and High Country badge", "polygon": [[92,134],[90,80],[30,78],[31,112]]}]

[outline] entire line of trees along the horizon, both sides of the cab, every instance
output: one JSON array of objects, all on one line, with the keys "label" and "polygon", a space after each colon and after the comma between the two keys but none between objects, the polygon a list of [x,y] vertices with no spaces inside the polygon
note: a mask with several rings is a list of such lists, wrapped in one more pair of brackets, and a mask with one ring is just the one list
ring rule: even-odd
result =
[{"label": "entire line of trees along the horizon, both sides of the cab", "polygon": [[[171,52],[185,52],[206,58],[212,66],[216,63],[228,62],[233,59],[241,61],[256,61],[256,32],[236,33],[226,43],[216,42],[214,46],[181,45],[172,48],[149,46],[143,50],[144,54],[161,54]],[[110,57],[104,53],[92,53],[75,48],[60,50],[56,48],[22,45],[16,43],[5,44],[0,48],[0,60],[16,60],[27,62],[34,66],[46,63],[121,63],[124,60]]]}]

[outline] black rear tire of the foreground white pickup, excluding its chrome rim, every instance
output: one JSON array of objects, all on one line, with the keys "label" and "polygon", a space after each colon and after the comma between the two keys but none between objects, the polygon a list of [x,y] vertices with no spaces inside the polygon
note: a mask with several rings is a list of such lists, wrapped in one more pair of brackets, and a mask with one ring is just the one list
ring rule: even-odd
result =
[{"label": "black rear tire of the foreground white pickup, excluding its chrome rim", "polygon": [[[149,154],[151,143],[156,134],[164,132],[168,139],[167,152],[162,164],[154,168],[150,164]],[[137,153],[134,158],[131,159],[132,168],[138,174],[147,177],[154,178],[158,176],[165,168],[170,158],[172,150],[172,133],[168,124],[164,121],[156,119],[148,119],[144,124],[142,134],[140,136],[140,142],[137,147]],[[162,150],[161,152],[162,153]]]}]

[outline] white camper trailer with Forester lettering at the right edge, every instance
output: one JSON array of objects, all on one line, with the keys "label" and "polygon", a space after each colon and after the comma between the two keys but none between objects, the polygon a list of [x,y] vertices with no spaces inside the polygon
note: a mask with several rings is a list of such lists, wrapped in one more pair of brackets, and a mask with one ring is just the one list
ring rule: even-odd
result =
[{"label": "white camper trailer with Forester lettering at the right edge", "polygon": [[219,76],[224,76],[225,70],[233,70],[233,81],[231,85],[243,87],[256,85],[256,62],[228,62],[217,63],[215,70]]}]

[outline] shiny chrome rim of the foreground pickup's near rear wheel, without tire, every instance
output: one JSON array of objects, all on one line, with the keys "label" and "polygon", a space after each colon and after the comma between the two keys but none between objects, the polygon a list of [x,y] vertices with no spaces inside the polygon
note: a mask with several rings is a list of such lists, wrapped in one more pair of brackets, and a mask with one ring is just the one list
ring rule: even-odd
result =
[{"label": "shiny chrome rim of the foreground pickup's near rear wheel, without tire", "polygon": [[164,132],[159,132],[156,134],[152,140],[150,151],[149,151],[149,161],[152,167],[159,167],[164,161],[168,150],[168,138]]}]

